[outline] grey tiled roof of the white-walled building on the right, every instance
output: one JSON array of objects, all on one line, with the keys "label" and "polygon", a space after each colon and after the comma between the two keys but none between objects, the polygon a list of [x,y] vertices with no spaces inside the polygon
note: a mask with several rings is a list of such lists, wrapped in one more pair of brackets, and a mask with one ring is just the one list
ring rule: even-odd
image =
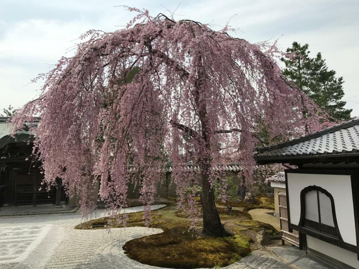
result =
[{"label": "grey tiled roof of the white-walled building on the right", "polygon": [[254,158],[283,158],[359,152],[359,119],[275,146],[258,148]]}]

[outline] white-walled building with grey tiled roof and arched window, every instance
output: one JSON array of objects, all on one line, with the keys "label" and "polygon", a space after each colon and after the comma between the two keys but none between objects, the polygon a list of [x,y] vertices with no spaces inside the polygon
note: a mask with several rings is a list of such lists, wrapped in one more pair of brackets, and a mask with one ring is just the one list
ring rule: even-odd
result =
[{"label": "white-walled building with grey tiled roof and arched window", "polygon": [[288,167],[279,195],[283,244],[335,268],[359,268],[359,119],[258,148],[254,157]]}]

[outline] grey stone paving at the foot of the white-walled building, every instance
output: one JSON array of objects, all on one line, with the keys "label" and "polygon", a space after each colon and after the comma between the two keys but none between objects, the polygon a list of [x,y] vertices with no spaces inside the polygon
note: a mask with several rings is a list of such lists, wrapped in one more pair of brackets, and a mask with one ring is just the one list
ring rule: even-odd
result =
[{"label": "grey stone paving at the foot of the white-walled building", "polygon": [[294,268],[299,269],[335,269],[334,267],[326,264],[320,259],[311,255],[305,254],[295,246],[275,246],[268,247],[280,259],[284,260],[287,264],[294,265]]}]

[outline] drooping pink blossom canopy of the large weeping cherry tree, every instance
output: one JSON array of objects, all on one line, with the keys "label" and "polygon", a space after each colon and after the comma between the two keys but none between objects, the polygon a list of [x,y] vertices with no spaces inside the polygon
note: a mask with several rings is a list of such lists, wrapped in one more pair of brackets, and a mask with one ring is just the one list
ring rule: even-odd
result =
[{"label": "drooping pink blossom canopy of the large weeping cherry tree", "polygon": [[[255,134],[263,126],[270,137],[283,138],[302,134],[305,125],[321,128],[314,103],[281,75],[274,45],[130,10],[138,15],[125,29],[81,36],[75,55],[39,75],[45,79],[40,97],[12,119],[15,132],[41,117],[32,131],[45,181],[61,178],[68,195],[79,195],[84,213],[95,206],[89,190],[98,179],[99,198],[114,211],[127,206],[132,183],[140,186],[150,222],[171,162],[179,207],[187,201],[189,216],[198,217],[194,182],[222,181],[226,197],[225,177],[213,165],[240,161],[251,184]],[[188,162],[199,171],[188,171]]]}]

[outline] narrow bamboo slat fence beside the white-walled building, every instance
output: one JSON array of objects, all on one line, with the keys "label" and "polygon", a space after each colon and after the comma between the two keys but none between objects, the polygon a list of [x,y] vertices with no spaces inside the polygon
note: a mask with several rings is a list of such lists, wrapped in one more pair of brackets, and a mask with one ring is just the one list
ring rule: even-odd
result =
[{"label": "narrow bamboo slat fence beside the white-walled building", "polygon": [[279,219],[280,219],[280,232],[282,234],[282,245],[284,241],[299,247],[299,232],[293,230],[290,232],[288,225],[288,208],[287,196],[285,193],[278,193],[279,198]]}]

